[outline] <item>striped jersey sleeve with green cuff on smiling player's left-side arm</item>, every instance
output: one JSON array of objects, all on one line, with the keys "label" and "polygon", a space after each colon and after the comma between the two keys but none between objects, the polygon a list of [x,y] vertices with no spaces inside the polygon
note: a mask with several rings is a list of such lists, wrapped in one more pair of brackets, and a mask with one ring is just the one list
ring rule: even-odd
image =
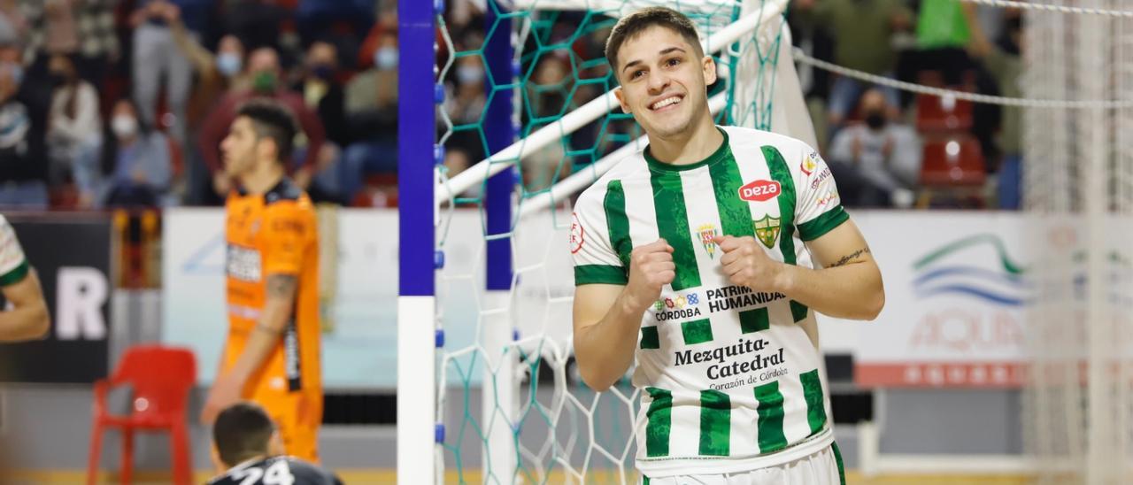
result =
[{"label": "striped jersey sleeve with green cuff on smiling player's left-side arm", "polygon": [[574,284],[625,284],[629,274],[610,242],[606,187],[594,186],[579,197],[571,214],[570,252]]}]

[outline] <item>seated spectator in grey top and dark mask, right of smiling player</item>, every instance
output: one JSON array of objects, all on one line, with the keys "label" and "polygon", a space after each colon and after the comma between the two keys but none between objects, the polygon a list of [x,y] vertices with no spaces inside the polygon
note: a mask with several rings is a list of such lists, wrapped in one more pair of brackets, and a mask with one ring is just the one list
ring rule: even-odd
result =
[{"label": "seated spectator in grey top and dark mask, right of smiling player", "polygon": [[864,125],[851,125],[834,136],[830,171],[842,203],[854,207],[908,207],[921,167],[921,141],[911,127],[892,122],[885,94],[862,94]]}]

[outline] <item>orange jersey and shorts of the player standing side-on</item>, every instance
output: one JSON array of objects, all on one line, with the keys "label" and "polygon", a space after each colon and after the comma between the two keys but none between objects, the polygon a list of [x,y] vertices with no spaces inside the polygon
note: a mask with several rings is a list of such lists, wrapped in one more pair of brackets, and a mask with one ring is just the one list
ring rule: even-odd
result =
[{"label": "orange jersey and shorts of the player standing side-on", "polygon": [[222,372],[232,368],[259,324],[267,278],[296,276],[291,321],[248,380],[242,398],[264,406],[284,434],[293,426],[317,428],[323,383],[315,209],[301,189],[283,179],[263,195],[231,193],[225,210],[229,331]]}]

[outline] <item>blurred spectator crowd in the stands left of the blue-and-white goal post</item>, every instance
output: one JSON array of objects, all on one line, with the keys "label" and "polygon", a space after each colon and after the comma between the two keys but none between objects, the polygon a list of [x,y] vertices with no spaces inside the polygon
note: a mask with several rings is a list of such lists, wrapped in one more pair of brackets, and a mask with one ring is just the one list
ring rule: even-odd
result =
[{"label": "blurred spectator crowd in the stands left of the blue-and-white goal post", "polygon": [[395,165],[394,0],[0,0],[0,206],[216,205],[250,97],[304,135],[292,176],[351,204]]}]

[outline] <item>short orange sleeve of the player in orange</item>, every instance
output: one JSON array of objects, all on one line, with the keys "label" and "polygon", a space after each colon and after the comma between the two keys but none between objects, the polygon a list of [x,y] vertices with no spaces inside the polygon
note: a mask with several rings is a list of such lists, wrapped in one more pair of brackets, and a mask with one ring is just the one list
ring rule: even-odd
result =
[{"label": "short orange sleeve of the player in orange", "polygon": [[264,274],[299,274],[304,253],[315,237],[314,210],[308,204],[272,204],[261,230]]}]

